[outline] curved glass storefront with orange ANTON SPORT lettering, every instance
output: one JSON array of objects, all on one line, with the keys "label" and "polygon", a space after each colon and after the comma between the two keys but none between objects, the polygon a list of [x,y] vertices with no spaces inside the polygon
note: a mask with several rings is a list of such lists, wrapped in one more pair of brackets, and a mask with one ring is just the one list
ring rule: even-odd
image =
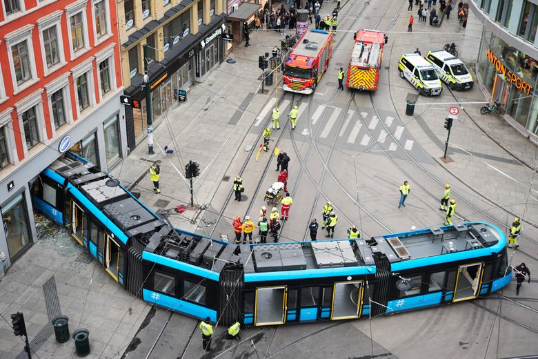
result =
[{"label": "curved glass storefront with orange ANTON SPORT lettering", "polygon": [[[477,71],[488,93],[495,94],[501,101],[506,115],[515,119],[528,132],[538,135],[538,97],[535,95],[538,60],[484,29]],[[497,76],[498,74],[504,75]]]}]

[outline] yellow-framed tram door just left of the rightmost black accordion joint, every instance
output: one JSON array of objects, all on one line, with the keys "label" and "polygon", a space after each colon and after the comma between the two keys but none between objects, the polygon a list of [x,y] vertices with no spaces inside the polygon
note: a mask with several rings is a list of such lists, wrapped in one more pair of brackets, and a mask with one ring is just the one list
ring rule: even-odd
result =
[{"label": "yellow-framed tram door just left of the rightmost black accordion joint", "polygon": [[362,311],[363,281],[336,282],[332,287],[331,320],[359,318]]}]

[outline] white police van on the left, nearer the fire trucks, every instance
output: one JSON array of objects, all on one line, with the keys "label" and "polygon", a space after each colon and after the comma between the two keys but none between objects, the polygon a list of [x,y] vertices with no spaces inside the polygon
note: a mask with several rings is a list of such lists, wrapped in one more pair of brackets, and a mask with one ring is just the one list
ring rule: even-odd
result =
[{"label": "white police van on the left, nearer the fire trucks", "polygon": [[437,71],[419,54],[401,55],[398,71],[402,79],[407,79],[419,93],[432,96],[441,94],[441,81]]}]

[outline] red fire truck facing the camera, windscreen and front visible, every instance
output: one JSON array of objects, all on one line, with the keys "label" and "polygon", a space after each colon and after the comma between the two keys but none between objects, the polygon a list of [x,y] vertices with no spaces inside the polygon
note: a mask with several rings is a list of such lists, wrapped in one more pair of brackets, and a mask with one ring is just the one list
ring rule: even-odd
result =
[{"label": "red fire truck facing the camera, windscreen and front visible", "polygon": [[284,63],[284,90],[313,93],[331,56],[332,33],[322,30],[305,32]]}]

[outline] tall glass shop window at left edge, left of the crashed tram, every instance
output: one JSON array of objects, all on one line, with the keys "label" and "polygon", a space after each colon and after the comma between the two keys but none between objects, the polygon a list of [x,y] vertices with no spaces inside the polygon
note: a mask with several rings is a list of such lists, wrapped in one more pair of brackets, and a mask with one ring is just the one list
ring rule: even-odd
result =
[{"label": "tall glass shop window at left edge, left of the crashed tram", "polygon": [[28,229],[26,200],[21,193],[2,207],[3,230],[8,240],[10,260],[13,262],[32,244]]}]

